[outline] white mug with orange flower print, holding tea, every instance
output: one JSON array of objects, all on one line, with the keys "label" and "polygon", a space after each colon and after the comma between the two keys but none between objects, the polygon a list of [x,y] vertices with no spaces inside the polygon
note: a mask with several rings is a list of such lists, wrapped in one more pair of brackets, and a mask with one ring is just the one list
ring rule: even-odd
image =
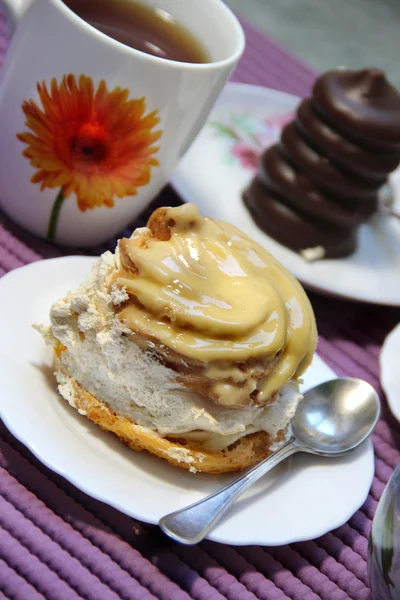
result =
[{"label": "white mug with orange flower print, holding tea", "polygon": [[243,52],[243,30],[221,0],[162,0],[210,56],[183,63],[115,41],[62,0],[6,6],[15,31],[0,72],[0,206],[59,244],[105,242],[167,183]]}]

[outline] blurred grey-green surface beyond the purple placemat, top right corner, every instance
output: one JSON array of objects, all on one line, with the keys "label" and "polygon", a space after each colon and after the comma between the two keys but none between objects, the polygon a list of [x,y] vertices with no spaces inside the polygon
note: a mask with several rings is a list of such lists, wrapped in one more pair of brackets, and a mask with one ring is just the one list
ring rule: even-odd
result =
[{"label": "blurred grey-green surface beyond the purple placemat, top right corner", "polygon": [[379,67],[400,87],[400,2],[396,0],[226,0],[307,63]]}]

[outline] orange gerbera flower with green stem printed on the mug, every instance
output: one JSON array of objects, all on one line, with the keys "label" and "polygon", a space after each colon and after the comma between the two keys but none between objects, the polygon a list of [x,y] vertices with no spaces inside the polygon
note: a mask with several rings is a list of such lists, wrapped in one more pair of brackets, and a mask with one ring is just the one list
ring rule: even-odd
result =
[{"label": "orange gerbera flower with green stem printed on the mug", "polygon": [[50,216],[48,237],[55,238],[65,198],[75,193],[81,211],[114,206],[115,198],[137,194],[158,166],[155,145],[162,130],[158,111],[146,113],[146,99],[129,99],[129,90],[108,91],[104,80],[95,90],[81,75],[37,84],[41,107],[25,101],[22,110],[30,131],[17,134],[23,155],[36,169],[32,183],[59,193]]}]

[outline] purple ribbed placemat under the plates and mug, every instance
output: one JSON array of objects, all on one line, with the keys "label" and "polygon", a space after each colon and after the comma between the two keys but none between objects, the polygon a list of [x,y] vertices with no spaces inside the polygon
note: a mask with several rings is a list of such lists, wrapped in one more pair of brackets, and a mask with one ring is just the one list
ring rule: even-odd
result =
[{"label": "purple ribbed placemat under the plates and mug", "polygon": [[[305,95],[315,73],[245,24],[237,81]],[[0,64],[7,46],[0,13]],[[166,190],[160,202],[175,202]],[[142,218],[142,222],[145,217]],[[111,244],[112,245],[112,244]],[[57,250],[0,217],[0,276]],[[311,295],[320,355],[340,375],[379,386],[378,355],[399,309]],[[376,476],[346,524],[312,542],[188,548],[135,523],[42,466],[0,424],[0,597],[12,600],[368,600],[367,538],[377,501],[400,460],[386,405],[374,435]]]}]

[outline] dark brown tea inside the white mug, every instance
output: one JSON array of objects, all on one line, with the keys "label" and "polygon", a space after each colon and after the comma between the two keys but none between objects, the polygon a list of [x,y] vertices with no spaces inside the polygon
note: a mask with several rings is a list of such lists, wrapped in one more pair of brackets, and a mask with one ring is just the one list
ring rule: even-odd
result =
[{"label": "dark brown tea inside the white mug", "polygon": [[179,62],[210,62],[201,42],[162,8],[135,0],[64,0],[64,4],[125,46]]}]

